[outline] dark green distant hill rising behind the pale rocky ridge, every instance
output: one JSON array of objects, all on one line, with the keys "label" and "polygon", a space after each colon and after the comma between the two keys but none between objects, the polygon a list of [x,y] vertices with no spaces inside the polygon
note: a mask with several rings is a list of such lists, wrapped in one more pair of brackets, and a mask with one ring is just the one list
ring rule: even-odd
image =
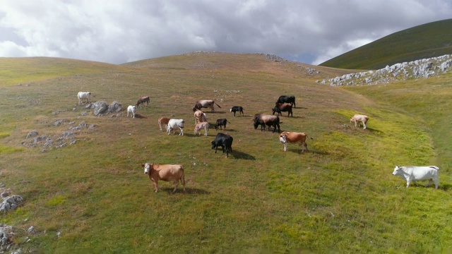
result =
[{"label": "dark green distant hill rising behind the pale rocky ridge", "polygon": [[452,19],[395,32],[320,66],[375,70],[386,65],[452,54]]}]

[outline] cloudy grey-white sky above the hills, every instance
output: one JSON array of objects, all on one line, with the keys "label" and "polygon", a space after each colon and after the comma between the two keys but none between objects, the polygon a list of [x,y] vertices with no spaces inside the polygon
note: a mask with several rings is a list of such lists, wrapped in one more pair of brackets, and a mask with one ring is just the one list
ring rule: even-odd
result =
[{"label": "cloudy grey-white sky above the hills", "polygon": [[0,57],[119,64],[218,51],[319,64],[448,18],[451,0],[1,0]]}]

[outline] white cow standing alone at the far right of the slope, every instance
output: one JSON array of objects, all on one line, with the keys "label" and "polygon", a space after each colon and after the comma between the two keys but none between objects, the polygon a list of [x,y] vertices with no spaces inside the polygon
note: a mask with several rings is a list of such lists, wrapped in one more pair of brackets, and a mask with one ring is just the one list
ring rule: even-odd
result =
[{"label": "white cow standing alone at the far right of the slope", "polygon": [[432,185],[432,182],[434,181],[435,188],[437,189],[439,184],[439,167],[396,166],[393,171],[393,176],[400,176],[405,179],[405,181],[407,181],[407,188],[410,186],[411,182],[416,183],[416,181],[430,180],[427,186]]}]

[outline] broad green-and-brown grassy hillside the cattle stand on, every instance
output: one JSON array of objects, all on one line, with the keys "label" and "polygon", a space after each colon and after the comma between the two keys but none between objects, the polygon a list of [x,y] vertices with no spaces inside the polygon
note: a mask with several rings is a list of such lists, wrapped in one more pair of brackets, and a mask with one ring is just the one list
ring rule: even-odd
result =
[{"label": "broad green-and-brown grassy hillside the cattle stand on", "polygon": [[[2,59],[0,59],[1,61]],[[13,61],[14,59],[10,59]],[[16,59],[26,61],[27,59]],[[65,63],[65,59],[55,59]],[[111,66],[83,62],[89,73],[42,77],[30,68],[30,86],[6,86],[0,93],[0,182],[24,198],[1,215],[16,227],[23,250],[52,253],[428,253],[451,250],[450,127],[446,105],[451,76],[420,86],[414,102],[399,89],[415,81],[372,87],[329,87],[315,83],[346,71],[270,61],[259,54],[198,53]],[[311,68],[317,68],[312,67]],[[52,68],[58,68],[54,66]],[[24,71],[24,70],[20,70]],[[44,71],[43,71],[44,73]],[[58,71],[56,71],[58,73]],[[20,81],[22,82],[22,81]],[[93,116],[76,107],[76,92],[93,101],[126,107],[150,95],[136,119]],[[379,92],[381,95],[377,95]],[[297,145],[283,152],[278,133],[254,130],[251,116],[270,114],[279,95],[295,95],[293,118],[281,117],[283,131],[306,132],[309,152]],[[380,96],[386,99],[380,99]],[[208,137],[194,136],[191,107],[214,99],[208,121],[227,118],[232,155],[210,149]],[[441,101],[442,102],[442,101]],[[244,107],[245,116],[229,109]],[[76,108],[73,110],[73,108]],[[437,111],[436,117],[428,114]],[[83,111],[89,114],[83,116]],[[349,122],[370,116],[367,130]],[[186,121],[185,135],[160,132],[160,116]],[[55,126],[55,122],[64,122]],[[66,147],[24,147],[32,130],[59,137],[85,122]],[[73,122],[73,123],[71,123]],[[5,147],[5,148],[2,148]],[[141,163],[182,164],[186,193],[160,192]],[[392,176],[394,164],[441,167],[440,188],[405,188]],[[37,232],[26,230],[35,226]],[[22,230],[23,229],[23,230]],[[60,236],[57,234],[60,233]],[[31,241],[28,241],[28,238]]]}]

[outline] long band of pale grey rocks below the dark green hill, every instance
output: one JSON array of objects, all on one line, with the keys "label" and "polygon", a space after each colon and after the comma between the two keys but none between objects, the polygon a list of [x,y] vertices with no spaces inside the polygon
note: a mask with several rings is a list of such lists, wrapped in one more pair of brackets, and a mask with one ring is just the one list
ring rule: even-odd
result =
[{"label": "long band of pale grey rocks below the dark green hill", "polygon": [[396,63],[376,71],[349,73],[340,77],[317,80],[316,83],[337,85],[375,85],[408,78],[429,78],[450,71],[452,55],[432,57],[410,62]]}]

